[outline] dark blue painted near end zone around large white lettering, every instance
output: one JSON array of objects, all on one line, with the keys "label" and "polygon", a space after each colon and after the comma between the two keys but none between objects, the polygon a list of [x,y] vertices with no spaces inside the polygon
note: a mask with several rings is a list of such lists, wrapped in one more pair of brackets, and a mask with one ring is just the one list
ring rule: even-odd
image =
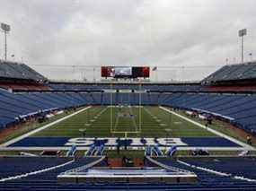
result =
[{"label": "dark blue painted near end zone around large white lettering", "polygon": [[[22,139],[19,142],[13,143],[9,145],[9,147],[62,147],[68,143],[70,137],[27,137]],[[92,142],[87,142],[86,138],[84,139],[84,144],[79,142],[78,146],[90,146]],[[91,138],[92,140],[92,138]],[[132,145],[132,146],[144,146],[146,139],[142,139],[141,144]],[[106,146],[115,146],[116,144],[108,144],[109,140],[104,138],[98,138],[97,140],[93,140],[95,145],[106,144]],[[121,146],[124,146],[122,143],[126,143],[127,146],[130,146],[133,143],[132,138],[128,138],[126,141],[124,140],[116,140]],[[179,145],[177,146],[189,146],[189,147],[241,147],[241,145],[231,142],[223,137],[181,137],[181,142],[186,143],[187,145]],[[154,141],[155,144],[158,143],[158,140]],[[159,144],[159,143],[158,143]],[[160,143],[159,146],[165,146],[165,144]],[[170,146],[170,145],[169,145]]]}]

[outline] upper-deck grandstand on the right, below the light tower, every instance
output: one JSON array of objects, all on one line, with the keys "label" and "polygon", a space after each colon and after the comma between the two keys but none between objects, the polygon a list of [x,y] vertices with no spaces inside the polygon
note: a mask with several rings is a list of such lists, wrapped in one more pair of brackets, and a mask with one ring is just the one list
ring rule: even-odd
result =
[{"label": "upper-deck grandstand on the right, below the light tower", "polygon": [[256,79],[256,61],[244,64],[225,65],[202,80],[204,84],[215,82],[250,81]]}]

